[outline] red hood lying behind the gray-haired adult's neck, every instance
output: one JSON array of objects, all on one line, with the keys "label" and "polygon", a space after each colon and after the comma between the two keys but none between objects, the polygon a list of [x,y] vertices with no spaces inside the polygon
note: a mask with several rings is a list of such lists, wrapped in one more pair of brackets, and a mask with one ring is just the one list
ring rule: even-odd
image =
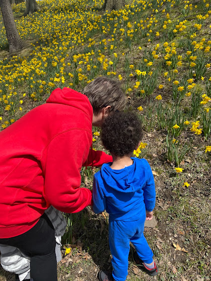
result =
[{"label": "red hood lying behind the gray-haired adult's neck", "polygon": [[60,103],[69,106],[73,106],[82,110],[87,114],[91,120],[93,117],[93,108],[87,98],[87,96],[72,90],[70,88],[57,88],[55,89],[46,101],[47,103]]}]

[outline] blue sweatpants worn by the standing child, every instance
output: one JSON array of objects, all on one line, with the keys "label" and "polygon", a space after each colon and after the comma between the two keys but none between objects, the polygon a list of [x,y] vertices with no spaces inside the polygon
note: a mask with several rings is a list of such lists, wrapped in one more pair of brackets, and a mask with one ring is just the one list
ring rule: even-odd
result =
[{"label": "blue sweatpants worn by the standing child", "polygon": [[109,222],[109,245],[112,253],[113,277],[116,281],[125,281],[128,275],[128,255],[130,241],[133,243],[139,257],[146,263],[153,261],[153,252],[144,237],[146,215],[135,221]]}]

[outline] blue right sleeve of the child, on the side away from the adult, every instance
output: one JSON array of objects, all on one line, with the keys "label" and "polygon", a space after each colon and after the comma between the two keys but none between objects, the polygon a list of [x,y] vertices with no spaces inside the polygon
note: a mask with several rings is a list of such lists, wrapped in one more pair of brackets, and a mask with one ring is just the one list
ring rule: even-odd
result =
[{"label": "blue right sleeve of the child, on the side away from the adult", "polygon": [[[145,160],[146,161],[146,160]],[[146,206],[146,210],[151,212],[155,208],[155,181],[152,174],[151,167],[149,163],[146,161],[146,185],[143,188],[144,191],[144,203]]]}]

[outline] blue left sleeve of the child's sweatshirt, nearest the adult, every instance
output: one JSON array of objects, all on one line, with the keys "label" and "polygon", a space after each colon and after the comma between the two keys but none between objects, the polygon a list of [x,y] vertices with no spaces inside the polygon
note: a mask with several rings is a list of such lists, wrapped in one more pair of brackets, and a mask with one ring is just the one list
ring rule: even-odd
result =
[{"label": "blue left sleeve of the child's sweatshirt, nearest the adult", "polygon": [[105,196],[102,189],[99,186],[97,177],[94,175],[93,187],[92,187],[92,200],[93,200],[93,211],[95,214],[99,214],[106,209]]}]

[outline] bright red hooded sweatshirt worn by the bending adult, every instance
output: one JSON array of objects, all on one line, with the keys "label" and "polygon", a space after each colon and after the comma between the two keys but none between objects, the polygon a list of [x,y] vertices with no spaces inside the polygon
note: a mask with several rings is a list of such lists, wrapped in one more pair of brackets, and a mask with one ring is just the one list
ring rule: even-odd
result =
[{"label": "bright red hooded sweatshirt worn by the bending adult", "polygon": [[25,233],[50,205],[66,213],[90,205],[80,169],[112,161],[89,149],[92,114],[85,95],[58,88],[0,133],[0,238]]}]

